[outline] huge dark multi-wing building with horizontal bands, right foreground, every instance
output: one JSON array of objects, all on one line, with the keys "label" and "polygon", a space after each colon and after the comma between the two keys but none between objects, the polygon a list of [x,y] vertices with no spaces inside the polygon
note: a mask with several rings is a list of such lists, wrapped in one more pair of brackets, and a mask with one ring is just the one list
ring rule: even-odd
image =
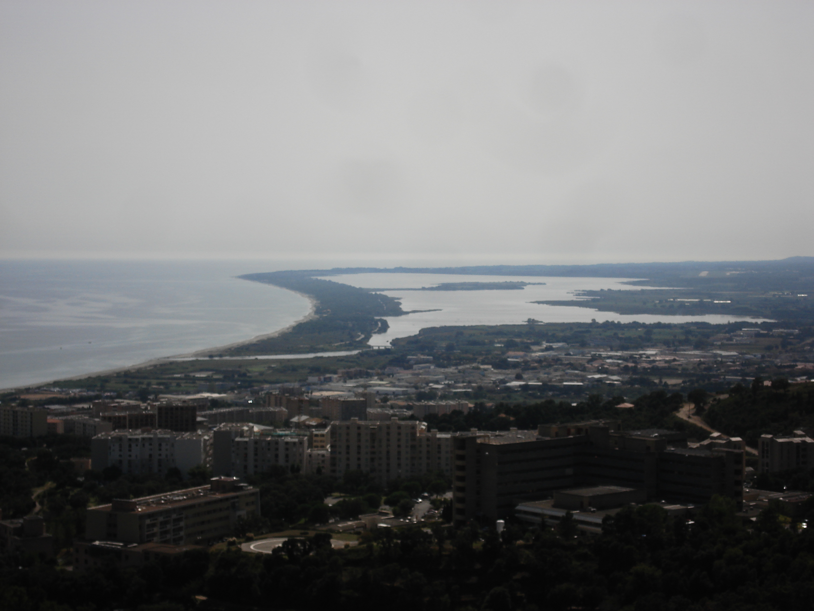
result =
[{"label": "huge dark multi-wing building with horizontal bands, right foreground", "polygon": [[[539,433],[539,434],[537,434]],[[617,422],[540,426],[540,430],[455,437],[456,521],[509,515],[518,503],[579,486],[622,486],[647,498],[742,503],[743,451],[688,448],[683,433],[622,432]]]}]

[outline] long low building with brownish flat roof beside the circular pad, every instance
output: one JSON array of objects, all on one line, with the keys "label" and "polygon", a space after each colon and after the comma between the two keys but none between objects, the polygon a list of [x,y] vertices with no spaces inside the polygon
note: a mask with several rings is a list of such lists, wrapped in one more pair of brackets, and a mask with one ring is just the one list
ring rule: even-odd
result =
[{"label": "long low building with brownish flat roof beside the circular pad", "polygon": [[209,486],[141,499],[113,499],[88,508],[85,538],[120,543],[214,543],[241,517],[260,511],[260,490],[234,477],[213,477]]}]

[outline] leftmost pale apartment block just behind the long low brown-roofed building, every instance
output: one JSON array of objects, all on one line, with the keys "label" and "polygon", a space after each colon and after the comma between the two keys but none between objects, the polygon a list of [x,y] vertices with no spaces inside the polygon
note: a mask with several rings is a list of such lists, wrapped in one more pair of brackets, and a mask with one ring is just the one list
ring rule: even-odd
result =
[{"label": "leftmost pale apartment block just behind the long low brown-roofed building", "polygon": [[186,473],[199,464],[209,464],[208,433],[174,431],[113,431],[90,440],[94,470],[116,466],[122,473],[167,473],[178,468]]}]

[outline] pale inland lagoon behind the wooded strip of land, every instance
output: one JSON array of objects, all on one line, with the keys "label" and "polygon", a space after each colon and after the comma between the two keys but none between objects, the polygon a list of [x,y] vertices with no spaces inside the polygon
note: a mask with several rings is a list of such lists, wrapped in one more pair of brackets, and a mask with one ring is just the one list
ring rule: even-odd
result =
[{"label": "pale inland lagoon behind the wooded strip of land", "polygon": [[[396,337],[415,335],[424,327],[475,324],[519,324],[527,319],[543,323],[589,323],[591,319],[621,323],[731,323],[751,320],[747,317],[722,314],[703,316],[667,316],[660,314],[614,314],[580,306],[545,306],[530,301],[575,300],[575,291],[599,289],[630,290],[623,284],[625,278],[560,278],[540,276],[488,276],[452,274],[352,274],[326,277],[344,284],[361,288],[421,288],[447,282],[505,282],[523,280],[544,282],[542,286],[527,286],[512,291],[399,291],[385,290],[384,294],[398,297],[403,310],[437,310],[417,312],[405,316],[387,318],[390,328],[386,333],[375,335],[371,345],[389,345]],[[648,290],[642,288],[643,291]]]}]

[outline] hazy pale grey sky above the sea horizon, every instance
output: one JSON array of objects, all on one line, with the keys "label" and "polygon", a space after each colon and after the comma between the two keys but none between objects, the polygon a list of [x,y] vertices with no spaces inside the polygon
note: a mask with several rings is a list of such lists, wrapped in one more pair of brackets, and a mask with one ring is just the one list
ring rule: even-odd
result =
[{"label": "hazy pale grey sky above the sea horizon", "polygon": [[814,2],[0,2],[0,257],[814,255]]}]

